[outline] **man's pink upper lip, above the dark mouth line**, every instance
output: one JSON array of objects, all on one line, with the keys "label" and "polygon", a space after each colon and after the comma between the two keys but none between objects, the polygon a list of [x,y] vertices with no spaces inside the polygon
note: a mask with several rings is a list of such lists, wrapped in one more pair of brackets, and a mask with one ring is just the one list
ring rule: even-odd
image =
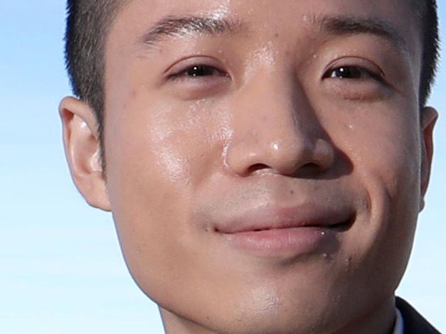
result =
[{"label": "man's pink upper lip, above the dark mouth line", "polygon": [[353,210],[339,206],[306,204],[284,208],[261,205],[219,222],[216,231],[234,234],[294,227],[334,227],[351,222],[353,216]]}]

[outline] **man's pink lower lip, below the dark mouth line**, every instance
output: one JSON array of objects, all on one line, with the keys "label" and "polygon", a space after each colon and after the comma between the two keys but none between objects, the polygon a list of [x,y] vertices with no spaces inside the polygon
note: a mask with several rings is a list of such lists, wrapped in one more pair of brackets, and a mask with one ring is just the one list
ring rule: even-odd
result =
[{"label": "man's pink lower lip, below the dark mouth line", "polygon": [[259,256],[333,252],[337,233],[328,227],[290,227],[225,234],[236,249]]}]

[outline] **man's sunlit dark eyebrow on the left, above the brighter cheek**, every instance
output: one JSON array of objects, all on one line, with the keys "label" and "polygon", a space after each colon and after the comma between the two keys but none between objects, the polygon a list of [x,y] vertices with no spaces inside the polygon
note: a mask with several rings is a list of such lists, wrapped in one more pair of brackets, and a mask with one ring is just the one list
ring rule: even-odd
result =
[{"label": "man's sunlit dark eyebrow on the left, above the brighter cheek", "polygon": [[166,16],[144,33],[142,43],[154,46],[165,37],[233,35],[244,30],[244,23],[230,18]]}]

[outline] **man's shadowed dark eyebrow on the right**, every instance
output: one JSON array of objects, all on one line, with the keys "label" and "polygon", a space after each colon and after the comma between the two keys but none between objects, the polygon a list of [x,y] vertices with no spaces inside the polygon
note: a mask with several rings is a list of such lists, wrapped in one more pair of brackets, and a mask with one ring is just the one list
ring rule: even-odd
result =
[{"label": "man's shadowed dark eyebrow on the right", "polygon": [[361,33],[371,34],[386,39],[393,46],[409,53],[410,48],[398,30],[381,18],[363,18],[354,16],[326,16],[316,18],[322,31],[332,35],[357,35]]}]

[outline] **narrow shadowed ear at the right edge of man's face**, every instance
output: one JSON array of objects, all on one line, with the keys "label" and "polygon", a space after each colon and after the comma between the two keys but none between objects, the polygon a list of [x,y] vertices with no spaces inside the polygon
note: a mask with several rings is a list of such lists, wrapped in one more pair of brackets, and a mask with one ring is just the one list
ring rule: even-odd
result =
[{"label": "narrow shadowed ear at the right edge of man's face", "polygon": [[434,151],[433,144],[433,130],[435,122],[437,122],[438,113],[435,109],[431,107],[425,107],[421,110],[421,134],[422,138],[422,160],[421,160],[421,202],[420,211],[423,210],[425,206],[425,194],[428,190],[429,179],[430,179],[430,168],[432,166],[432,155]]}]

